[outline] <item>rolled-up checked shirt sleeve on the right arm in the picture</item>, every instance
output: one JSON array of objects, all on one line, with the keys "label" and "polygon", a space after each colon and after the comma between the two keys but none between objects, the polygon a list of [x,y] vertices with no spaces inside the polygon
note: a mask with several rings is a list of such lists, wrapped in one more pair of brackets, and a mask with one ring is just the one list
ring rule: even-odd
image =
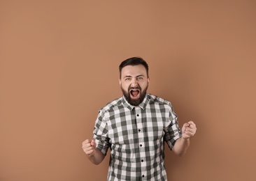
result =
[{"label": "rolled-up checked shirt sleeve on the right arm in the picture", "polygon": [[165,132],[164,139],[168,144],[169,148],[172,149],[177,139],[179,139],[182,136],[180,127],[178,127],[177,116],[176,116],[176,113],[174,113],[172,106],[169,111],[169,125],[164,127],[164,132]]}]

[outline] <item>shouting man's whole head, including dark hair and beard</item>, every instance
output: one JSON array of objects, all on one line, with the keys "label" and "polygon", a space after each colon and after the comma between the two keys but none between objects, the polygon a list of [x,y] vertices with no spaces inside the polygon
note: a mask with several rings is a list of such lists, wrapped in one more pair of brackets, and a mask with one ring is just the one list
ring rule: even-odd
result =
[{"label": "shouting man's whole head, including dark hair and beard", "polygon": [[143,102],[150,82],[148,63],[140,57],[128,58],[120,64],[119,72],[122,93],[129,104],[138,106]]}]

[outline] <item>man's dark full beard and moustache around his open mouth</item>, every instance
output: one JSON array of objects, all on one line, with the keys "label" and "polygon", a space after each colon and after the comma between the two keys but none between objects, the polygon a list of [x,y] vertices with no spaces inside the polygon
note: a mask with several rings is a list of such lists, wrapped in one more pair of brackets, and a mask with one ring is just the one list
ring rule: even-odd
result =
[{"label": "man's dark full beard and moustache around his open mouth", "polygon": [[[130,90],[133,88],[140,90],[141,95],[140,95],[140,97],[138,97],[138,99],[131,99]],[[121,85],[121,89],[122,89],[122,93],[125,96],[125,99],[127,100],[127,102],[129,102],[129,104],[133,105],[134,107],[137,107],[139,104],[141,104],[141,102],[143,102],[145,95],[147,94],[148,85],[145,87],[145,90],[143,90],[143,91],[141,91],[141,86],[136,86],[136,87],[129,86],[128,92],[122,88],[122,85]]]}]

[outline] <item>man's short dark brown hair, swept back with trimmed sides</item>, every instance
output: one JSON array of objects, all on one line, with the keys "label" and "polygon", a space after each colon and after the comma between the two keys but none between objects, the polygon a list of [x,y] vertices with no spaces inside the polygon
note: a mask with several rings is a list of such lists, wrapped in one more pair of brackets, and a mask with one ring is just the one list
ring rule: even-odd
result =
[{"label": "man's short dark brown hair, swept back with trimmed sides", "polygon": [[121,72],[122,68],[124,68],[127,65],[143,65],[145,70],[147,71],[147,76],[148,76],[148,63],[143,60],[143,58],[134,56],[131,58],[127,58],[125,61],[122,61],[122,63],[119,65],[119,74],[120,74],[120,79],[121,79]]}]

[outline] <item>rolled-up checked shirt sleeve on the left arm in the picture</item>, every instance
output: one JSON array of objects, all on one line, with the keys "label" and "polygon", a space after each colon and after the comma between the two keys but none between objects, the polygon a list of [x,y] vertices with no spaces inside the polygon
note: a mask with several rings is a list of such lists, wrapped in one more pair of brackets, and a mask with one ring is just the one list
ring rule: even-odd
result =
[{"label": "rolled-up checked shirt sleeve on the left arm in the picture", "polygon": [[99,111],[97,120],[95,121],[93,139],[97,145],[97,148],[106,155],[108,147],[110,146],[108,139],[108,124],[104,120],[104,112]]}]

